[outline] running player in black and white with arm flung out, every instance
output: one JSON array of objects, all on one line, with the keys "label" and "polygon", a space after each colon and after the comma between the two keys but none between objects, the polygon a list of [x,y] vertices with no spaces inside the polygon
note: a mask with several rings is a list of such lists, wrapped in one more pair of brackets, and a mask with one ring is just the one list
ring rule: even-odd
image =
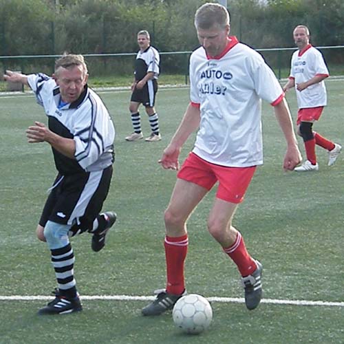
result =
[{"label": "running player in black and white with arm flung out", "polygon": [[39,314],[82,310],[69,237],[92,233],[92,250],[97,252],[116,221],[115,213],[100,213],[111,182],[115,129],[103,101],[87,87],[87,77],[83,56],[74,54],[56,61],[52,78],[11,71],[4,76],[30,86],[43,106],[48,127],[35,122],[26,131],[28,142],[50,144],[58,171],[36,229],[50,248],[58,288]]}]

